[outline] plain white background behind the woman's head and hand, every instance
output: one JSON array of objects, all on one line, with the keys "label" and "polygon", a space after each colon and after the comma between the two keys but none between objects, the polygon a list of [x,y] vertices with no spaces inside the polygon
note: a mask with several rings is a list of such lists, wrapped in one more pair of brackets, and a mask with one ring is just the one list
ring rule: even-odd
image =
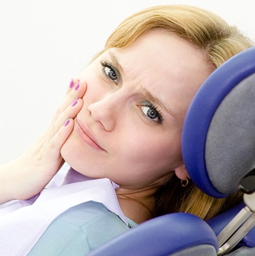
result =
[{"label": "plain white background behind the woman's head and hand", "polygon": [[211,10],[255,40],[254,0],[1,0],[0,163],[46,129],[71,77],[124,18],[161,4]]}]

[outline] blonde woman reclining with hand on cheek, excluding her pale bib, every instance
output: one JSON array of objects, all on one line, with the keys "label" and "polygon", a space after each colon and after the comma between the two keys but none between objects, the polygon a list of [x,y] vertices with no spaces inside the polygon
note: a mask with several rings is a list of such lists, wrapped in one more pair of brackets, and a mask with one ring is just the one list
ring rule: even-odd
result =
[{"label": "blonde woman reclining with hand on cheek, excluding her pale bib", "polygon": [[[131,227],[175,211],[208,219],[236,204],[238,195],[213,199],[188,184],[181,127],[206,77],[251,45],[236,28],[194,7],[152,7],[127,18],[72,79],[50,129],[24,155],[1,166],[2,202],[37,195],[66,161],[84,176],[119,185],[115,192]],[[83,215],[109,213],[97,203],[81,207]],[[84,254],[128,229],[114,216],[110,212],[108,222],[96,222],[92,236],[79,237],[80,228],[72,233],[74,226],[64,223],[77,221],[77,208],[71,208],[49,225],[30,253]],[[57,230],[63,226],[67,237],[61,240]],[[60,241],[53,241],[56,236]]]}]

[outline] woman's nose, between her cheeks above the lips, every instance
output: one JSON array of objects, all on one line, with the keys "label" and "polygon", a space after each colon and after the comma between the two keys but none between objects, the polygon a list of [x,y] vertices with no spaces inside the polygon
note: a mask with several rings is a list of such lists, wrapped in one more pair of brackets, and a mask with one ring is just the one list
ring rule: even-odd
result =
[{"label": "woman's nose, between her cheeks above the lips", "polygon": [[[115,102],[116,103],[116,102]],[[115,118],[115,104],[110,96],[105,96],[103,99],[88,105],[88,111],[94,121],[102,124],[103,128],[110,132],[114,128]]]}]

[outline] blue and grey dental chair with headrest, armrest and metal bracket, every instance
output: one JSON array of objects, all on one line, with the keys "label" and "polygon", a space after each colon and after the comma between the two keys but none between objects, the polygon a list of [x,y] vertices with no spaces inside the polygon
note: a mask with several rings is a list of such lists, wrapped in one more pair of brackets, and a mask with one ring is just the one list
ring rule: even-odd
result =
[{"label": "blue and grey dental chair with headrest, armrest and metal bracket", "polygon": [[207,222],[184,213],[154,218],[90,256],[255,255],[255,47],[199,89],[184,121],[182,155],[204,193],[223,198],[242,190],[243,203]]}]

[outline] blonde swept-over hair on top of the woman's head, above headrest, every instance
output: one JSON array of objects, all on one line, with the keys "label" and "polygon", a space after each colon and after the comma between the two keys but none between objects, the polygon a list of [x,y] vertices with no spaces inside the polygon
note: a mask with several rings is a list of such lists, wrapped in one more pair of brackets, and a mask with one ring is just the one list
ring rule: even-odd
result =
[{"label": "blonde swept-over hair on top of the woman's head, above headrest", "polygon": [[[108,37],[105,48],[126,48],[154,28],[163,28],[205,52],[215,68],[252,42],[224,19],[201,8],[185,5],[155,6],[125,19]],[[98,56],[97,55],[97,56]]]}]

